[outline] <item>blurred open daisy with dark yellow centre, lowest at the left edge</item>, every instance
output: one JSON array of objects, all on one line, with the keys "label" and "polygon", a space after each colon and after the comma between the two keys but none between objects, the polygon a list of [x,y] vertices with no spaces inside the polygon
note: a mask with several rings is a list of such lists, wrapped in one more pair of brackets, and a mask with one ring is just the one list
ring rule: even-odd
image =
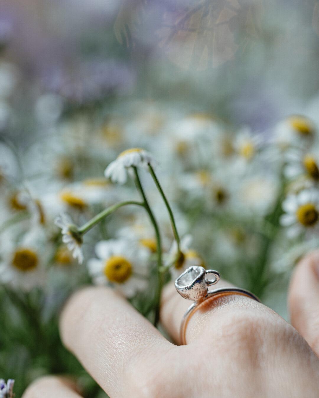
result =
[{"label": "blurred open daisy with dark yellow centre, lowest at the left edge", "polygon": [[1,283],[24,291],[45,283],[48,248],[43,228],[30,230],[20,242],[6,236],[2,246]]}]

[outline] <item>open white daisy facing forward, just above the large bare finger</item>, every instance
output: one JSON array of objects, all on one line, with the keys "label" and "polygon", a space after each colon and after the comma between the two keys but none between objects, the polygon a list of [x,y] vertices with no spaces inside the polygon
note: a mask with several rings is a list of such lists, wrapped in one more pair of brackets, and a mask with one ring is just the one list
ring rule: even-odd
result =
[{"label": "open white daisy facing forward, just above the large bare finger", "polygon": [[96,284],[112,285],[128,298],[146,289],[150,250],[127,239],[110,239],[98,242],[95,252],[98,258],[87,267]]}]

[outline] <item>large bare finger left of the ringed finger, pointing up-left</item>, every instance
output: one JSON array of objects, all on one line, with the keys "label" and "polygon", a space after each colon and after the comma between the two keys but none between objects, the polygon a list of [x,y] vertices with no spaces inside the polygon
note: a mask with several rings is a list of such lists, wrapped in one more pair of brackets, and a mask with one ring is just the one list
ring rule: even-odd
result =
[{"label": "large bare finger left of the ringed finger, pointing up-left", "polygon": [[152,369],[169,343],[112,289],[85,288],[66,304],[60,321],[63,343],[112,397],[130,396],[136,369]]}]

